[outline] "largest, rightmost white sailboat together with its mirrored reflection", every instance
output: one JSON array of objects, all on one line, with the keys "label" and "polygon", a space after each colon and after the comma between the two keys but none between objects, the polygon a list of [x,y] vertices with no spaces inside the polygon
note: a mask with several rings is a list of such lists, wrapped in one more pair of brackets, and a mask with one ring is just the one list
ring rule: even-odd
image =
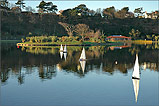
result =
[{"label": "largest, rightmost white sailboat together with its mirrored reflection", "polygon": [[139,61],[138,61],[138,55],[136,54],[134,71],[132,74],[132,82],[133,82],[133,86],[134,86],[134,93],[135,93],[135,101],[136,102],[137,102],[138,92],[139,92],[139,81],[140,81]]}]

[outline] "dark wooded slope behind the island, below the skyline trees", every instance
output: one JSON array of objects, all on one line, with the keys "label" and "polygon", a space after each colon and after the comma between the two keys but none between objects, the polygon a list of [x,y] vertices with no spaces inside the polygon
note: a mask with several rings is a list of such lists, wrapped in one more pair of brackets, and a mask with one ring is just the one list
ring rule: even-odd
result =
[{"label": "dark wooded slope behind the island, below the skyline trees", "polygon": [[38,13],[1,13],[1,38],[21,39],[26,36],[39,35],[68,35],[67,31],[58,22],[72,25],[86,24],[90,29],[103,31],[106,36],[111,34],[122,34],[129,36],[131,29],[138,29],[141,38],[146,34],[158,34],[158,20],[153,19],[104,19],[102,17],[68,17],[62,18],[55,14]]}]

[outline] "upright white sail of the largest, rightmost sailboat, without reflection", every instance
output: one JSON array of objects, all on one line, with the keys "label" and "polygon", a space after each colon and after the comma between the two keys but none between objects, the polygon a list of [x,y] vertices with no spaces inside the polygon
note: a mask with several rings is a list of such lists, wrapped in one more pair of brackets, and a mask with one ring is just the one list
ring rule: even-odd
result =
[{"label": "upright white sail of the largest, rightmost sailboat, without reflection", "polygon": [[132,77],[133,78],[140,78],[139,61],[138,61],[137,54],[136,54],[136,60],[135,60],[134,71],[133,71]]}]

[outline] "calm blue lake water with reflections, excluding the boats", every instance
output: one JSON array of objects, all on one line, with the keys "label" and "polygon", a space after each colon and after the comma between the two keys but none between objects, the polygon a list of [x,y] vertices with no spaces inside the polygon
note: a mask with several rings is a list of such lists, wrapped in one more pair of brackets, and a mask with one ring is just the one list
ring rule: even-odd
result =
[{"label": "calm blue lake water with reflections, excluding the boats", "polygon": [[[1,106],[159,105],[159,46],[16,47],[1,44]],[[136,54],[140,80],[132,73]]]}]

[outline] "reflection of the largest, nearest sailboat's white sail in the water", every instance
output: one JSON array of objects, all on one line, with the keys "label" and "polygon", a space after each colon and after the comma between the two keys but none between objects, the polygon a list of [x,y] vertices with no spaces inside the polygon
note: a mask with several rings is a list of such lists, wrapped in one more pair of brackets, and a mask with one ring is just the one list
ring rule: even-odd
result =
[{"label": "reflection of the largest, nearest sailboat's white sail in the water", "polygon": [[135,101],[137,102],[138,92],[139,92],[139,79],[132,79],[135,93]]}]

